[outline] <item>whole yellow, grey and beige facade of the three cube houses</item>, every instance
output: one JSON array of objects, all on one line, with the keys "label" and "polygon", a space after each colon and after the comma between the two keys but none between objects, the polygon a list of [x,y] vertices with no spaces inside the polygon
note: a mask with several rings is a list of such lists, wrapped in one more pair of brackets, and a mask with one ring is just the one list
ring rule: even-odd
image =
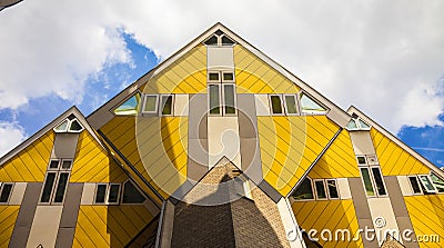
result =
[{"label": "whole yellow, grey and beige facade of the three cube houses", "polygon": [[443,178],[216,23],[0,159],[0,246],[444,247]]}]

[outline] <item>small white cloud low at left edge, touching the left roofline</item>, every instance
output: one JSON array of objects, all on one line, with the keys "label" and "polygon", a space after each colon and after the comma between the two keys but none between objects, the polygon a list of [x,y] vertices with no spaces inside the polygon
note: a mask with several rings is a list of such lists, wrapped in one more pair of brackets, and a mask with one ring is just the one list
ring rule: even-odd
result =
[{"label": "small white cloud low at left edge, touching the left roofline", "polygon": [[0,121],[0,157],[27,138],[22,127],[14,122]]}]

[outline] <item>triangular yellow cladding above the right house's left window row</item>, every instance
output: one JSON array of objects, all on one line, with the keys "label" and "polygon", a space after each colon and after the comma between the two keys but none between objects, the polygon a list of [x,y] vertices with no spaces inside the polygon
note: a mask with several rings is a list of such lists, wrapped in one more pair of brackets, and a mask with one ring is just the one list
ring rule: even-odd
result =
[{"label": "triangular yellow cladding above the right house's left window row", "polygon": [[341,131],[341,135],[310,171],[309,177],[313,179],[360,177],[347,130]]}]

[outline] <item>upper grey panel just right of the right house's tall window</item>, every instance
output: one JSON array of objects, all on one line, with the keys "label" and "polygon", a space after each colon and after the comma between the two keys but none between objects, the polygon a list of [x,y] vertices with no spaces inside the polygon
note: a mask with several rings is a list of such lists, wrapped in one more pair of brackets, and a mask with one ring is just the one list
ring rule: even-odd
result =
[{"label": "upper grey panel just right of the right house's tall window", "polygon": [[392,202],[395,217],[408,217],[407,207],[405,206],[404,197],[402,195],[397,178],[395,176],[384,177],[384,181],[385,186],[387,187],[390,201]]}]

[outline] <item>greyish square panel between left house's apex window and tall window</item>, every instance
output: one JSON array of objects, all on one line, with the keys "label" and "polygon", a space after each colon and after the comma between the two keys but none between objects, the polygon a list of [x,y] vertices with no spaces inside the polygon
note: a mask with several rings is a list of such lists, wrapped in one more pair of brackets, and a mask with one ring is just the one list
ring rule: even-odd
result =
[{"label": "greyish square panel between left house's apex window and tall window", "polygon": [[56,133],[53,158],[74,158],[79,133]]}]

